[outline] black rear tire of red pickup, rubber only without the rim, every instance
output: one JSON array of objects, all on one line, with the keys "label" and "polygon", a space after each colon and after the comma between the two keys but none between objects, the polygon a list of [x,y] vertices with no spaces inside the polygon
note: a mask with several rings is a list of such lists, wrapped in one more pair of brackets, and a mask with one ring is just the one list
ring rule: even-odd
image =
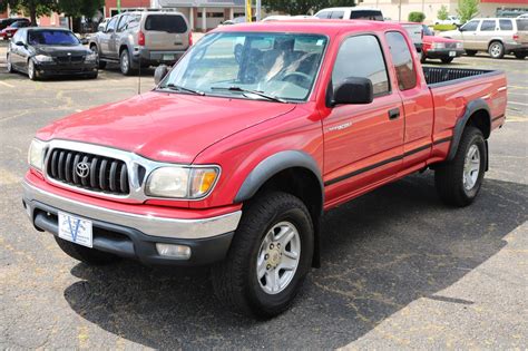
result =
[{"label": "black rear tire of red pickup, rubber only without the rim", "polygon": [[[466,155],[471,145],[476,145],[480,153],[480,170],[475,186],[468,191],[463,185],[463,169]],[[482,131],[472,126],[466,127],[454,158],[438,165],[434,172],[434,185],[443,203],[465,207],[475,201],[482,185],[487,155]]]}]

